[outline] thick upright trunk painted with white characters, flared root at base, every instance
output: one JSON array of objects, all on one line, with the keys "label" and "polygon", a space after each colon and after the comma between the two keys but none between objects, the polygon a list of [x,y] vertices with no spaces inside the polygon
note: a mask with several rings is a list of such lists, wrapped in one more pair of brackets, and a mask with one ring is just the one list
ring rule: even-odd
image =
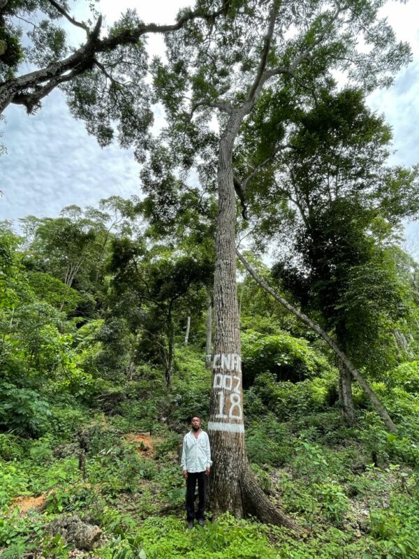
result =
[{"label": "thick upright trunk painted with white characters, flared root at base", "polygon": [[236,518],[257,514],[265,522],[295,525],[278,511],[249,470],[244,444],[240,319],[235,267],[236,202],[233,184],[233,145],[246,103],[228,119],[219,147],[218,215],[214,273],[214,361],[210,400],[213,467],[209,498],[214,514],[230,511]]}]

